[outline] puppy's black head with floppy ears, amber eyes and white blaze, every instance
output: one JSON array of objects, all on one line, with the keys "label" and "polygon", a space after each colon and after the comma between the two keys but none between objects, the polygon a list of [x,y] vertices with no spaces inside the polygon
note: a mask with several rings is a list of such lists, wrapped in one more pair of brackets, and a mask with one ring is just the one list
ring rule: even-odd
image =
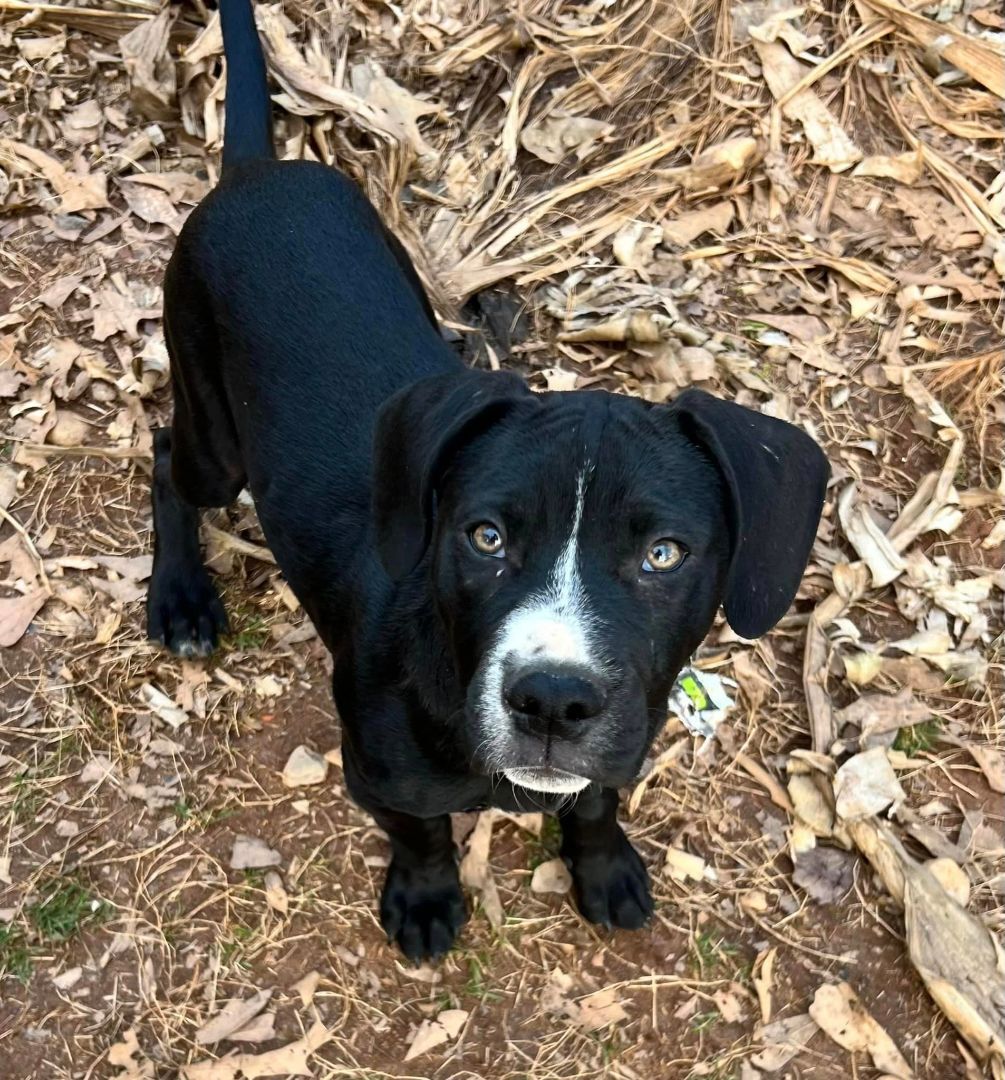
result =
[{"label": "puppy's black head with floppy ears, amber eyes and white blaze", "polygon": [[698,390],[651,405],[465,372],[392,397],[378,548],[393,578],[427,576],[472,768],[630,781],[719,605],[744,637],[788,609],[827,477],[798,428]]}]

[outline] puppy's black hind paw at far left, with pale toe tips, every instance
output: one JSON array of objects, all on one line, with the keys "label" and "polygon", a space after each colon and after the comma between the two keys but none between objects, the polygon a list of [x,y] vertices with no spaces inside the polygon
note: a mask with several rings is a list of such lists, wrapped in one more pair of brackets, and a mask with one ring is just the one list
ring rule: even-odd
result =
[{"label": "puppy's black hind paw at far left, with pale toe tips", "polygon": [[154,567],[147,593],[147,636],[176,657],[208,657],[227,633],[227,612],[205,567]]}]

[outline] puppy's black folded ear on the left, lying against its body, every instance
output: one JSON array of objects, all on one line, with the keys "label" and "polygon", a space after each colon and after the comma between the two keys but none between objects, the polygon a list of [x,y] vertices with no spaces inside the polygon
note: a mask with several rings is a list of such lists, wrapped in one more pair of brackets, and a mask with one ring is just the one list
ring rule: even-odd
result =
[{"label": "puppy's black folded ear on the left, lying against its body", "polygon": [[381,406],[374,447],[374,519],[384,569],[400,580],[419,565],[433,532],[436,484],[454,454],[531,396],[508,372],[434,375]]}]

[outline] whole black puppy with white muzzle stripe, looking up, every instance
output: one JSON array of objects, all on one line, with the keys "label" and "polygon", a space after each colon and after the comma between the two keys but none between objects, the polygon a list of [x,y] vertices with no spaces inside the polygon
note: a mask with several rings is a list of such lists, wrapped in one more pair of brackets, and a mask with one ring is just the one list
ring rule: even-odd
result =
[{"label": "whole black puppy with white muzzle stripe, looking up", "polygon": [[654,406],[465,369],[353,184],[272,160],[249,0],[221,9],[223,178],[165,283],[150,635],[214,648],[195,508],[248,485],[336,657],[345,781],[393,849],[388,934],[412,958],[449,948],[449,814],[488,805],[557,812],[582,913],[639,927],[652,902],[617,788],[719,604],[745,637],[788,608],[826,459],[697,391]]}]

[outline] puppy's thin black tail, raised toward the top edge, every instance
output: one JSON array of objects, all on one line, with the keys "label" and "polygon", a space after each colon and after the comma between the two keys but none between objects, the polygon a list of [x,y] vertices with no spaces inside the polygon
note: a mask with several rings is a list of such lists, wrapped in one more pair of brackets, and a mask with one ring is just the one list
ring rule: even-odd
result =
[{"label": "puppy's thin black tail, raised toward the top edge", "polygon": [[272,103],[266,58],[255,28],[253,0],[219,0],[227,57],[223,168],[240,161],[274,158]]}]

